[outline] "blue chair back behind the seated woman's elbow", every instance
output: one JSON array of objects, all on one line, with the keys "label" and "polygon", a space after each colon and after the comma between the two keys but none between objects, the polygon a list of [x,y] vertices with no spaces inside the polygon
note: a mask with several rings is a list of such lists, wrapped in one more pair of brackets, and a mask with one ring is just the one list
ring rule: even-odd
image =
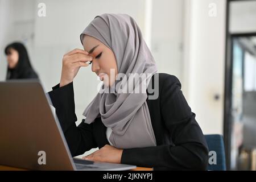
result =
[{"label": "blue chair back behind the seated woman's elbow", "polygon": [[222,135],[204,135],[209,148],[209,164],[207,170],[225,171],[226,159]]}]

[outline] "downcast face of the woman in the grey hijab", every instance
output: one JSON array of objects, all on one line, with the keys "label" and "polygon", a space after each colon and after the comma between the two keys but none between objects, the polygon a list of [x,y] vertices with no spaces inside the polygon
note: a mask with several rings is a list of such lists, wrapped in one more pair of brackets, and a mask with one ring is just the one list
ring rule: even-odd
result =
[{"label": "downcast face of the woman in the grey hijab", "polygon": [[[85,35],[82,41],[84,50],[93,57],[92,71],[104,81],[105,86],[112,86],[117,77],[117,62],[113,51],[92,36]],[[112,73],[110,74],[110,71]]]}]

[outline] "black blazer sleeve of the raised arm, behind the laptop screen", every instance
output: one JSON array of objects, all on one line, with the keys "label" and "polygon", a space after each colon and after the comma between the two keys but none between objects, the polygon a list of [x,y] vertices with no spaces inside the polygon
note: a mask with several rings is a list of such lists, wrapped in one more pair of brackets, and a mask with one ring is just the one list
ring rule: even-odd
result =
[{"label": "black blazer sleeve of the raised arm, behind the laptop screen", "polygon": [[53,107],[55,107],[56,115],[67,140],[71,155],[81,155],[91,148],[96,148],[92,125],[84,123],[84,119],[82,119],[80,125],[76,126],[77,117],[75,114],[73,82],[62,87],[58,84],[52,89],[48,94]]}]

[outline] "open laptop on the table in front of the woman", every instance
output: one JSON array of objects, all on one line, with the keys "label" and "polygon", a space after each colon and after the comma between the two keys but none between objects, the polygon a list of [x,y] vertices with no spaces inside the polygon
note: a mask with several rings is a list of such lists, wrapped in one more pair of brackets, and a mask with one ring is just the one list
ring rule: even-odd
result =
[{"label": "open laptop on the table in front of the woman", "polygon": [[72,158],[51,100],[38,80],[0,82],[0,165],[33,170],[129,170]]}]

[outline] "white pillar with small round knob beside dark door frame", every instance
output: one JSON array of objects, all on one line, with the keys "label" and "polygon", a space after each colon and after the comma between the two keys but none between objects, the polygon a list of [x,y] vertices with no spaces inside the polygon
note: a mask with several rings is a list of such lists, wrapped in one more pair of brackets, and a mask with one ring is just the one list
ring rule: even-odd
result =
[{"label": "white pillar with small round knob beside dark door frame", "polygon": [[[209,16],[210,3],[216,4],[215,17]],[[205,134],[223,134],[225,8],[223,0],[185,1],[183,90]]]}]

